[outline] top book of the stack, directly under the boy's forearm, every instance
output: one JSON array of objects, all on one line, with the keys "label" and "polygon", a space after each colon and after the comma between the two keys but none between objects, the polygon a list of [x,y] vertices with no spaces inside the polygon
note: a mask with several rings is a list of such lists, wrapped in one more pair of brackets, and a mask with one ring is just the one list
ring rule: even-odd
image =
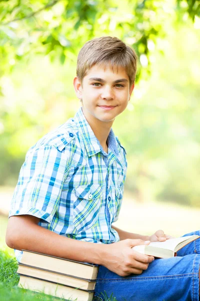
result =
[{"label": "top book of the stack, directly under the boy's forearm", "polygon": [[22,250],[23,254],[20,263],[46,269],[56,273],[67,274],[72,277],[79,277],[88,280],[95,280],[98,272],[98,265],[69,260],[37,252]]}]

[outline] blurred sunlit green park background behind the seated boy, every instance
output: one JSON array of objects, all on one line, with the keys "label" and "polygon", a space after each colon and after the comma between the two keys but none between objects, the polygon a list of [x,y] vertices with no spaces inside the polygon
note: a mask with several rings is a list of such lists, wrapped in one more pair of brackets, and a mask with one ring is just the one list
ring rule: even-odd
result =
[{"label": "blurred sunlit green park background behind the seated boy", "polygon": [[87,40],[105,35],[138,55],[133,96],[113,124],[128,162],[117,225],[177,236],[199,228],[199,12],[199,0],[0,2],[3,247],[25,154],[74,115],[80,105],[72,87],[77,53]]}]

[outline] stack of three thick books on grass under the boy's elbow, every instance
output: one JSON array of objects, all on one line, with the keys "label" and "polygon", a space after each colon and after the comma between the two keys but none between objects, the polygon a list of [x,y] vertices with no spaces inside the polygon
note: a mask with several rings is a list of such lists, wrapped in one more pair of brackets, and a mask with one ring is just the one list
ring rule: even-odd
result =
[{"label": "stack of three thick books on grass under the boy's elbow", "polygon": [[67,300],[92,300],[98,265],[22,251],[19,287]]}]

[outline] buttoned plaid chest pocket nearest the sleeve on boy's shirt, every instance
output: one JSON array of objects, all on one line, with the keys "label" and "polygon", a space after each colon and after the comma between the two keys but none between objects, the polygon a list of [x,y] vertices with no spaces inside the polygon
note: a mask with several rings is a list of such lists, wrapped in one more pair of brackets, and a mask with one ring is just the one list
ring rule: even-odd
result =
[{"label": "buttoned plaid chest pocket nearest the sleeve on boy's shirt", "polygon": [[75,187],[76,200],[73,203],[73,225],[78,232],[94,227],[102,206],[102,187],[80,185]]}]

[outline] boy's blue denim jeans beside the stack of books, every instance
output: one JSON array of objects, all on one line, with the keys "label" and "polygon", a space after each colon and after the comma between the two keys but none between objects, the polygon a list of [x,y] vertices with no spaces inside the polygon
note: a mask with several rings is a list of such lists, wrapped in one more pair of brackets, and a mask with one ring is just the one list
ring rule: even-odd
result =
[{"label": "boy's blue denim jeans beside the stack of books", "polygon": [[[193,234],[200,231],[186,235]],[[199,265],[200,238],[179,250],[177,257],[155,259],[140,275],[121,277],[99,266],[94,300],[112,295],[116,301],[198,301]]]}]

